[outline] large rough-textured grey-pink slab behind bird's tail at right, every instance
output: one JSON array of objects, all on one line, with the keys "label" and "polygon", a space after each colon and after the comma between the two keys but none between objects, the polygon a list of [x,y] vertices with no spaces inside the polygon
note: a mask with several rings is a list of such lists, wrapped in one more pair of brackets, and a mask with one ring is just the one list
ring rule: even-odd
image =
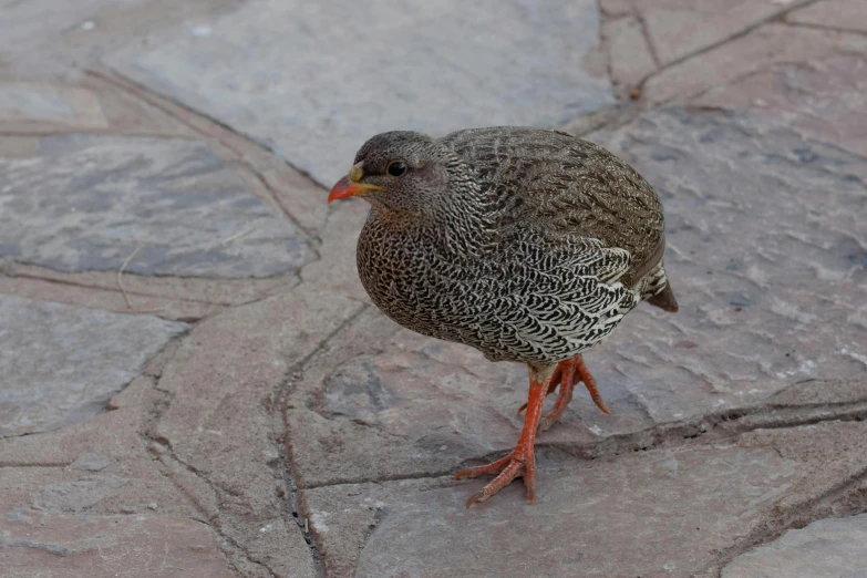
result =
[{"label": "large rough-textured grey-pink slab behind bird's tail at right", "polygon": [[[606,142],[665,205],[681,312],[627,319],[599,349],[613,355],[605,381],[668,421],[809,378],[864,375],[859,157],[753,116],[679,110],[643,115]],[[691,385],[678,384],[684,378]]]}]

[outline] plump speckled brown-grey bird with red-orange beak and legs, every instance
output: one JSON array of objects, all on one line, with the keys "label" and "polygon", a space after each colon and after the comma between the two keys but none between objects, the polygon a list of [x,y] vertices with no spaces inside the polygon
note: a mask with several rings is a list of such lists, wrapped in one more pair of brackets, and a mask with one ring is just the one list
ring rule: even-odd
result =
[{"label": "plump speckled brown-grey bird with red-orange beak and legs", "polygon": [[537,430],[562,415],[578,381],[610,414],[581,353],[642,300],[678,310],[662,262],[657,194],[592,143],[502,126],[442,138],[379,134],[359,149],[328,202],[348,197],[371,205],[357,264],[376,307],[424,336],[527,365],[515,450],[455,478],[495,476],[467,507],[518,476],[533,504]]}]

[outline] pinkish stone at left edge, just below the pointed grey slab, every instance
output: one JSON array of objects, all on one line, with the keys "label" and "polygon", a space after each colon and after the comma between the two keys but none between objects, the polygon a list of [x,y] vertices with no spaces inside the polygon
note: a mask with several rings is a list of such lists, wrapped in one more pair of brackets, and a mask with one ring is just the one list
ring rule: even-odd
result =
[{"label": "pinkish stone at left edge, just below the pointed grey slab", "polygon": [[90,421],[0,440],[0,518],[33,504],[84,514],[147,513],[157,504],[165,515],[207,519],[142,443],[151,394],[151,380],[140,378]]}]

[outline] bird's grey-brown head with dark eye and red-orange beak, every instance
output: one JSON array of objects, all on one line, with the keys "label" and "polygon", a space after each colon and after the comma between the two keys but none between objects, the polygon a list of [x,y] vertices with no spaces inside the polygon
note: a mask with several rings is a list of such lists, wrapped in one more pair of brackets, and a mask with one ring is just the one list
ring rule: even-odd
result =
[{"label": "bird's grey-brown head with dark eye and red-orange beak", "polygon": [[456,162],[452,151],[425,134],[382,133],[359,149],[328,202],[362,197],[380,210],[420,215],[448,195],[448,168]]}]

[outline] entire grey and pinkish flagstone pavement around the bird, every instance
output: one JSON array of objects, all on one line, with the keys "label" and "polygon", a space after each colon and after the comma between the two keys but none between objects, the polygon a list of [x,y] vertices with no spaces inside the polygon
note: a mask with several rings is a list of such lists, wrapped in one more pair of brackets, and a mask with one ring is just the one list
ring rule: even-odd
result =
[{"label": "entire grey and pinkish flagstone pavement around the bird", "polygon": [[[867,576],[860,0],[0,0],[0,576]],[[677,316],[526,373],[396,327],[326,186],[560,127],[667,215]],[[861,514],[861,515],[858,515]]]}]

